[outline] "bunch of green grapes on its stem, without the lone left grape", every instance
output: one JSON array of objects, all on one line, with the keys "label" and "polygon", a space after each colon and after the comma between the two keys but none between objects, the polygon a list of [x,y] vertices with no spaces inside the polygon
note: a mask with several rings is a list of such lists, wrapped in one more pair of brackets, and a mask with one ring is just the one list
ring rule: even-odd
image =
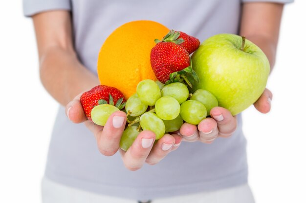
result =
[{"label": "bunch of green grapes on its stem, without the lone left grape", "polygon": [[218,100],[206,90],[191,94],[180,82],[163,85],[159,81],[142,80],[125,105],[128,120],[120,148],[130,148],[142,130],[153,131],[158,140],[165,133],[179,130],[184,122],[197,125],[216,106]]}]

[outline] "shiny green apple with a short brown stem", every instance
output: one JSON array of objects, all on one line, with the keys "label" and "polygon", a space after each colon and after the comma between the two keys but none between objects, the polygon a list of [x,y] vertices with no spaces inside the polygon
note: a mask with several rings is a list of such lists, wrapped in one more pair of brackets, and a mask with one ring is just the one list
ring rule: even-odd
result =
[{"label": "shiny green apple with a short brown stem", "polygon": [[233,34],[206,39],[192,55],[199,77],[197,89],[207,90],[233,115],[252,105],[265,89],[270,64],[251,41]]}]

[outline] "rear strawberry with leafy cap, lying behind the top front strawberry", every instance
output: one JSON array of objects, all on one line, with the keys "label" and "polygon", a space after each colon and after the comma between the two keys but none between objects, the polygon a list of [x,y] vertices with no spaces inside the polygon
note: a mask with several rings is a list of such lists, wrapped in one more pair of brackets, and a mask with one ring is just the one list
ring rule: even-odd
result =
[{"label": "rear strawberry with leafy cap, lying behind the top front strawberry", "polygon": [[179,46],[184,47],[189,54],[196,51],[200,45],[200,41],[196,37],[192,37],[181,31],[174,30],[171,30],[165,37],[162,38],[161,41],[173,41]]}]

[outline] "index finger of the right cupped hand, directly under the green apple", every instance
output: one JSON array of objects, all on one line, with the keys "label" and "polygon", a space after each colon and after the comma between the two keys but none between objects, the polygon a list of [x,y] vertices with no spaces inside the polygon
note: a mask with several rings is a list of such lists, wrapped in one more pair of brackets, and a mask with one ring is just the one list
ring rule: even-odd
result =
[{"label": "index finger of the right cupped hand, directly under the green apple", "polygon": [[237,128],[237,119],[231,112],[222,107],[215,107],[210,111],[211,116],[216,120],[220,137],[229,137]]}]

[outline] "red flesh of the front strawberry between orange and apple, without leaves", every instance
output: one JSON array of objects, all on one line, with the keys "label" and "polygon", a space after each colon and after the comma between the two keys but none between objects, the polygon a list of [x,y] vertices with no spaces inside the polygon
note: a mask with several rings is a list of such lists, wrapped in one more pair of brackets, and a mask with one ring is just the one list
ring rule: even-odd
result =
[{"label": "red flesh of the front strawberry between orange and apple, without leaves", "polygon": [[166,83],[170,74],[190,66],[188,52],[175,42],[158,42],[151,50],[151,66],[156,78]]}]

